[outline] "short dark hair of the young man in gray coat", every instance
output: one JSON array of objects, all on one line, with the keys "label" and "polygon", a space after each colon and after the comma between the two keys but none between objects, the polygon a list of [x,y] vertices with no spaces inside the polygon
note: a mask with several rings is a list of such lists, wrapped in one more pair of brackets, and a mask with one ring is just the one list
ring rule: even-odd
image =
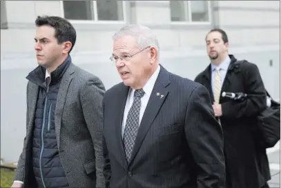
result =
[{"label": "short dark hair of the young man in gray coat", "polygon": [[76,41],[76,30],[69,21],[61,17],[38,16],[35,20],[35,24],[37,27],[50,25],[52,28],[55,28],[55,38],[57,39],[57,43],[60,44],[70,41],[72,46],[68,53],[71,52]]}]

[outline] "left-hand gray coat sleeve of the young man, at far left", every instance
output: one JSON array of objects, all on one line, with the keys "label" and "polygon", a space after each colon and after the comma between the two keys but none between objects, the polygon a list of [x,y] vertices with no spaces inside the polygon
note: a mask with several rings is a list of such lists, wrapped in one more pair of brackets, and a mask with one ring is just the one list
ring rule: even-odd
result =
[{"label": "left-hand gray coat sleeve of the young man, at far left", "polygon": [[[26,86],[26,134],[28,132],[28,124],[29,124],[29,108],[28,108],[28,86],[29,82]],[[19,160],[17,162],[17,169],[14,174],[14,180],[23,182],[24,178],[24,166],[26,164],[26,137],[23,140],[23,151],[21,152],[21,155],[19,156]]]}]

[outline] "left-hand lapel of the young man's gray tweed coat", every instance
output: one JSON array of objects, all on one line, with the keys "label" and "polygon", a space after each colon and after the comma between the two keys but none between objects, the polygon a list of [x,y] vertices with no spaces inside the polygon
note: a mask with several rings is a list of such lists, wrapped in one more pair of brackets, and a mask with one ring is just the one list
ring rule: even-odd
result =
[{"label": "left-hand lapel of the young man's gray tweed coat", "polygon": [[30,98],[28,100],[29,122],[28,122],[26,138],[29,138],[29,136],[32,134],[32,130],[34,127],[35,111],[36,111],[38,94],[39,94],[39,86],[35,85],[33,83],[30,83],[30,87],[28,87],[28,98]]}]

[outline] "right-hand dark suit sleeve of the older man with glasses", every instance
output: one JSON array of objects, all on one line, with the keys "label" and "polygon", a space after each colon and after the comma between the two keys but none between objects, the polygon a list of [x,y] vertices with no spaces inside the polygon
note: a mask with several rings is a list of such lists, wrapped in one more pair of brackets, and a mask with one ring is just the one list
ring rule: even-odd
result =
[{"label": "right-hand dark suit sleeve of the older man with glasses", "polygon": [[206,87],[197,86],[186,111],[185,134],[197,166],[197,187],[225,185],[224,139]]}]

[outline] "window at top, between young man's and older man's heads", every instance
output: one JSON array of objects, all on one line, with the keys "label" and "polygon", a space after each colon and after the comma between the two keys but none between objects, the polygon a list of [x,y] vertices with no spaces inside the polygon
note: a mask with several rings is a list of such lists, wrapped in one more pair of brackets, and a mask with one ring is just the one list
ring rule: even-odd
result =
[{"label": "window at top, between young man's and older man's heads", "polygon": [[90,21],[124,21],[124,1],[63,1],[64,18]]}]

